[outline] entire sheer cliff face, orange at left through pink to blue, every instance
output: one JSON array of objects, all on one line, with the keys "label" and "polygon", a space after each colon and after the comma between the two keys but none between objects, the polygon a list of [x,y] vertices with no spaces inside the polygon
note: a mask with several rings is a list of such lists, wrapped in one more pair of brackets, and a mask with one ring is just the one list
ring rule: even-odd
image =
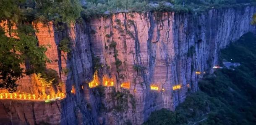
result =
[{"label": "entire sheer cliff face, orange at left through pink to blue", "polygon": [[[196,15],[118,13],[71,25],[65,33],[55,30],[52,23],[39,24],[39,44],[51,45],[46,54],[53,62],[47,68],[56,70],[65,81],[66,98],[50,104],[0,100],[4,112],[0,120],[4,124],[139,125],[154,110],[175,110],[187,92],[198,90],[197,81],[204,72],[212,72],[218,64],[221,48],[254,32],[250,21],[255,12],[256,7]],[[66,34],[73,43],[68,54],[57,49]],[[89,88],[95,66],[100,81],[103,76],[112,78],[114,87]],[[19,84],[27,87],[29,80],[27,76]],[[121,87],[123,82],[130,87]],[[180,89],[173,90],[176,85]]]}]

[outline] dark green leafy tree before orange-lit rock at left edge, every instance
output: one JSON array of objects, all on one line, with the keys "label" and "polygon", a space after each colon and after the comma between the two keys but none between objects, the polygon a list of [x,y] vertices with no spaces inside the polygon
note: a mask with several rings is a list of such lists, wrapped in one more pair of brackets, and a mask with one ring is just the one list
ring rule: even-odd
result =
[{"label": "dark green leafy tree before orange-lit rock at left edge", "polygon": [[[0,29],[0,87],[10,92],[16,91],[16,81],[24,73],[43,72],[45,62],[50,62],[44,54],[47,48],[38,46],[37,38],[32,33],[15,32],[15,37],[7,37]],[[26,66],[26,70],[21,65]]]}]

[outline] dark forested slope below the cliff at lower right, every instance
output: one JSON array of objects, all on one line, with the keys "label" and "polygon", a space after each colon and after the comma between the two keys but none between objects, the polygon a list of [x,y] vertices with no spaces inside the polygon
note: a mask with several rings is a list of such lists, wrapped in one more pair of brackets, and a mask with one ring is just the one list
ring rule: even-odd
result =
[{"label": "dark forested slope below the cliff at lower right", "polygon": [[221,57],[241,66],[219,69],[199,82],[201,91],[189,95],[175,112],[153,112],[144,125],[255,125],[256,36],[243,35]]}]

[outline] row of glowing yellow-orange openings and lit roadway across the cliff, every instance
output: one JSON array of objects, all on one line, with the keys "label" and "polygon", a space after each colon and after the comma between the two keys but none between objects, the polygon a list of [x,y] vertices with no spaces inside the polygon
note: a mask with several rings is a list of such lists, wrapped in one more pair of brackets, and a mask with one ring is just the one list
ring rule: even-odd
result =
[{"label": "row of glowing yellow-orange openings and lit roadway across the cliff", "polygon": [[[196,72],[196,74],[200,75],[205,72]],[[89,87],[94,88],[99,86],[100,80],[97,75],[97,72],[94,73],[94,78],[91,82],[89,82]],[[107,77],[106,75],[103,76],[103,86],[105,87],[111,87],[114,86],[114,80],[112,78]],[[187,85],[189,87],[189,84]],[[121,84],[122,88],[125,89],[130,89],[130,82],[123,82]],[[183,86],[182,85],[175,85],[172,87],[172,90],[180,90]],[[83,88],[83,87],[82,87]],[[151,90],[156,90],[156,91],[164,91],[164,88],[160,88],[158,85],[152,84],[150,85]],[[136,92],[136,89],[135,89]],[[72,87],[71,93],[75,93],[75,88],[74,86]],[[27,94],[27,93],[20,93],[20,92],[1,92],[0,93],[0,100],[30,100],[30,101],[45,101],[45,102],[50,102],[50,101],[55,101],[55,100],[61,100],[65,98],[65,93],[63,92],[51,92],[49,95],[39,95],[37,93],[34,94]]]}]

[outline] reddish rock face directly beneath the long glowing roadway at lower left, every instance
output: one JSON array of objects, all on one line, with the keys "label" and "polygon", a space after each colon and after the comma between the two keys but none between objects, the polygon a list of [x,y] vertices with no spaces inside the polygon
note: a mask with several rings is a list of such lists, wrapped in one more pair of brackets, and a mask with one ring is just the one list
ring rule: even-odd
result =
[{"label": "reddish rock face directly beneath the long glowing roadway at lower left", "polygon": [[1,125],[57,125],[61,122],[61,104],[44,102],[1,100],[0,120]]}]

